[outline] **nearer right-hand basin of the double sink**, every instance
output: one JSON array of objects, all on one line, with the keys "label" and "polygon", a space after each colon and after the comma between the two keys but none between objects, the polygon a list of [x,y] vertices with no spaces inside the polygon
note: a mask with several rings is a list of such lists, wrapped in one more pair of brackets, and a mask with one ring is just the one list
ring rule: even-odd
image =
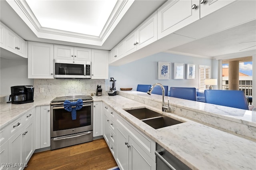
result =
[{"label": "nearer right-hand basin of the double sink", "polygon": [[168,126],[182,123],[180,121],[177,121],[175,119],[172,119],[172,118],[166,117],[166,116],[155,117],[152,119],[146,119],[146,120],[142,120],[142,122],[148,124],[149,126],[151,126],[154,129],[168,127]]}]

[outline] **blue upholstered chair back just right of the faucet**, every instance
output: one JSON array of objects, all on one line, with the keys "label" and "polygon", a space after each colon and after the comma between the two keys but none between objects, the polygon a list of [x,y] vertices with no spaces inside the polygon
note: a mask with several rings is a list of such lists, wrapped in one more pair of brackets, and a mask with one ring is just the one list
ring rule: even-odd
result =
[{"label": "blue upholstered chair back just right of the faucet", "polygon": [[196,101],[196,88],[170,87],[170,97]]}]

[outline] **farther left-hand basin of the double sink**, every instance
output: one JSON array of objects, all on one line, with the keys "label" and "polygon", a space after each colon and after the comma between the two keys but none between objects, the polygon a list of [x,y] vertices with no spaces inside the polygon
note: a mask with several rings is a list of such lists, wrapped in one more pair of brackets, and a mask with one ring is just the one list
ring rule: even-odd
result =
[{"label": "farther left-hand basin of the double sink", "polygon": [[151,117],[158,117],[158,116],[162,116],[162,114],[154,112],[150,109],[147,108],[142,108],[142,109],[133,109],[133,110],[126,110],[128,113],[130,113],[131,115],[133,115],[134,117],[138,118],[138,119],[148,119]]}]

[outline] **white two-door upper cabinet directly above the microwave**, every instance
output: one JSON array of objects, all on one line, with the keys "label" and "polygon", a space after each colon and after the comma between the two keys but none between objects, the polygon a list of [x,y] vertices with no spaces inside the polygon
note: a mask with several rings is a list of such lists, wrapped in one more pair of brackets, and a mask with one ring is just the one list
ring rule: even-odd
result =
[{"label": "white two-door upper cabinet directly above the microwave", "polygon": [[90,48],[54,44],[54,59],[92,61]]}]

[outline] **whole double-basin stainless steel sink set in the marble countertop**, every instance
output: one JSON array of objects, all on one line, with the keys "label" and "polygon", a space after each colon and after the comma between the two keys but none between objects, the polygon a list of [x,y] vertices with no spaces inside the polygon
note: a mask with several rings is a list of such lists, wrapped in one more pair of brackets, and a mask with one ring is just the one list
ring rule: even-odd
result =
[{"label": "whole double-basin stainless steel sink set in the marble countertop", "polygon": [[182,123],[147,108],[132,109],[126,111],[155,129]]}]

